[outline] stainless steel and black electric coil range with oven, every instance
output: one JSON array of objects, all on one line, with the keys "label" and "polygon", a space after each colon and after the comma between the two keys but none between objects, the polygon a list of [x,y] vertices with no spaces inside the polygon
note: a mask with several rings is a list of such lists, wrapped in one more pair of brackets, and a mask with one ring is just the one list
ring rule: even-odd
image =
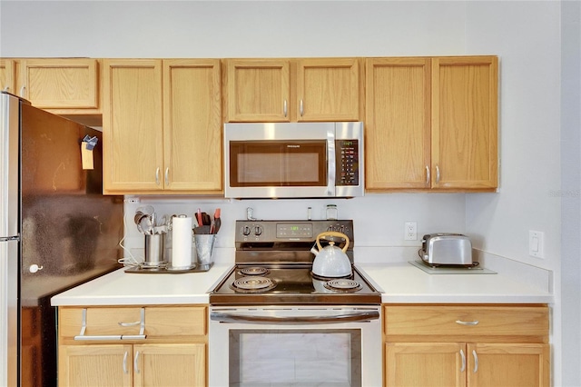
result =
[{"label": "stainless steel and black electric coil range with oven", "polygon": [[325,231],[349,237],[353,263],[352,221],[236,222],[235,264],[210,293],[210,386],[381,385],[381,294],[355,266],[312,275]]}]

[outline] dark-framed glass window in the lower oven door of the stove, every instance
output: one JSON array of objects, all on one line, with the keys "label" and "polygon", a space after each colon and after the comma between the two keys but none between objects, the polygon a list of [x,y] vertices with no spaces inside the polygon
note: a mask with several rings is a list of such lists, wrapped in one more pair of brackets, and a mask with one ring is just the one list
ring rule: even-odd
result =
[{"label": "dark-framed glass window in the lower oven door of the stove", "polygon": [[231,386],[361,386],[358,329],[231,330]]}]

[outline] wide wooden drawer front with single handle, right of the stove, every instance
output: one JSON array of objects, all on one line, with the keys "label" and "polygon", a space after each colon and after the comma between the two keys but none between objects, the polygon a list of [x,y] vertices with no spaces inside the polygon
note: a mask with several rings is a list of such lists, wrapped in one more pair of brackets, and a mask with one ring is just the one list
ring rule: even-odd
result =
[{"label": "wide wooden drawer front with single handle, right of the stove", "polygon": [[385,305],[387,335],[546,336],[545,305]]}]

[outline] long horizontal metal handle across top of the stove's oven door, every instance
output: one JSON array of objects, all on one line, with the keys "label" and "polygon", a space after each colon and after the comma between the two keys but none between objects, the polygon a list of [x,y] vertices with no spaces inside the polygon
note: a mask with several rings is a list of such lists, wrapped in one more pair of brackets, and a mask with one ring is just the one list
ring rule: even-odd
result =
[{"label": "long horizontal metal handle across top of the stove's oven door", "polygon": [[210,319],[219,323],[291,323],[291,324],[323,324],[323,323],[353,323],[378,320],[378,311],[335,314],[331,316],[256,316],[249,314],[210,313]]}]

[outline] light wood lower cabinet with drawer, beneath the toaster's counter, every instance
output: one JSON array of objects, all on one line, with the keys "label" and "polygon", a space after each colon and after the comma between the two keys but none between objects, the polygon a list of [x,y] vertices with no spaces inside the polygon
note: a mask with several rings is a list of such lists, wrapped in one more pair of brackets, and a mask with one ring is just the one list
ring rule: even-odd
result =
[{"label": "light wood lower cabinet with drawer, beneath the toaster's counter", "polygon": [[550,385],[546,305],[385,305],[385,385]]}]

